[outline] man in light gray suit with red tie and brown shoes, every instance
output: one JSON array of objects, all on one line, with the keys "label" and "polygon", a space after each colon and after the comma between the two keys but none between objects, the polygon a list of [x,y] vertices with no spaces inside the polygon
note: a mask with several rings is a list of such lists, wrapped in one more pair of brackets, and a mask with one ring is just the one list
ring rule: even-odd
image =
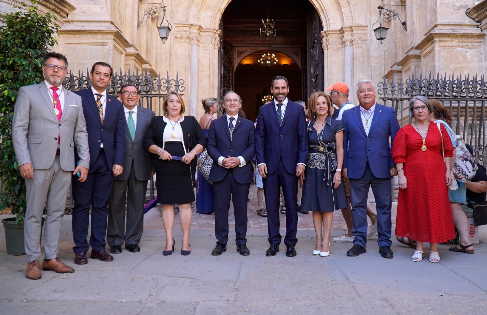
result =
[{"label": "man in light gray suit with red tie and brown shoes", "polygon": [[[42,269],[57,273],[75,270],[57,258],[59,233],[71,174],[88,176],[90,153],[81,97],[63,88],[68,60],[48,53],[42,62],[44,82],[19,89],[12,124],[12,140],[20,174],[27,188],[24,241],[29,279],[41,278],[41,217],[47,207]],[[75,168],[77,148],[79,165]],[[47,204],[46,204],[47,199]]]}]

